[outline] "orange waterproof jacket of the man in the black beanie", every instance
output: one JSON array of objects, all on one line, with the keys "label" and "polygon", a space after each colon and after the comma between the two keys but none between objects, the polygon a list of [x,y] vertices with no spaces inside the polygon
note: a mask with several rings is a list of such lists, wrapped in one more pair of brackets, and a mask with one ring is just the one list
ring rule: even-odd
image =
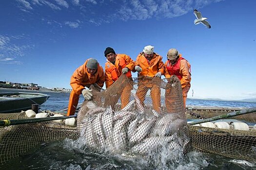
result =
[{"label": "orange waterproof jacket of the man in the black beanie", "polygon": [[118,77],[122,74],[122,68],[128,68],[127,77],[132,77],[131,70],[134,69],[135,63],[130,56],[126,54],[117,54],[115,65],[107,60],[105,63],[105,81],[106,88],[117,81]]}]

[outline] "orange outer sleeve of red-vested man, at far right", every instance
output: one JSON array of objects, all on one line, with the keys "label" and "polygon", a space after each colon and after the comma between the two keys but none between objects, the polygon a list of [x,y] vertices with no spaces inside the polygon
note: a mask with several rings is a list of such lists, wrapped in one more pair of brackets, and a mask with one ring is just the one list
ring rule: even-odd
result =
[{"label": "orange outer sleeve of red-vested man, at far right", "polygon": [[191,73],[189,72],[189,63],[186,60],[181,60],[179,68],[179,73],[182,75],[182,79],[180,80],[181,88],[190,86]]}]

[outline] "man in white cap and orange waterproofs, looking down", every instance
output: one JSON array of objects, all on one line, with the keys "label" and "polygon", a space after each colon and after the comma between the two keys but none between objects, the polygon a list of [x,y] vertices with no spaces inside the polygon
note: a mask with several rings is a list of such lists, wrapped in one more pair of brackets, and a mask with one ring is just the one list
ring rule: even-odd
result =
[{"label": "man in white cap and orange waterproofs, looking down", "polygon": [[[138,71],[138,76],[158,77],[164,74],[164,63],[162,56],[154,52],[153,46],[144,47],[143,52],[140,52],[135,62],[135,70]],[[136,95],[143,103],[147,91],[151,89],[150,95],[152,98],[153,108],[160,111],[160,88],[157,85],[147,84],[148,80],[142,80],[138,83]]]}]

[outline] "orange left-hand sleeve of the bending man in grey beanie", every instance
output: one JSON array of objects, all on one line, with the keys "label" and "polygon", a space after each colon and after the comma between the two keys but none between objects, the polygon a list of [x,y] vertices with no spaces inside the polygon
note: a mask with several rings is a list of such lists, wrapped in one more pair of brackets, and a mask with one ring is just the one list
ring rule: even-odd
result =
[{"label": "orange left-hand sleeve of the bending man in grey beanie", "polygon": [[76,94],[81,94],[81,91],[84,88],[82,82],[86,76],[86,63],[87,61],[77,68],[70,79],[70,85]]}]

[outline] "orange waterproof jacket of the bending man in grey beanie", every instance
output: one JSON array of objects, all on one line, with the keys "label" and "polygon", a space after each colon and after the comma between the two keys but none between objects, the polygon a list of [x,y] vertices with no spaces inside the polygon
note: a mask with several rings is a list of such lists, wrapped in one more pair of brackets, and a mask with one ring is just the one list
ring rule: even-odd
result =
[{"label": "orange waterproof jacket of the bending man in grey beanie", "polygon": [[[89,60],[89,59],[88,59]],[[105,82],[105,74],[103,68],[98,64],[98,69],[94,75],[91,75],[86,67],[85,63],[77,68],[70,79],[70,85],[76,94],[81,94],[82,89],[86,86],[89,87],[92,84],[97,84],[102,87]]]}]

